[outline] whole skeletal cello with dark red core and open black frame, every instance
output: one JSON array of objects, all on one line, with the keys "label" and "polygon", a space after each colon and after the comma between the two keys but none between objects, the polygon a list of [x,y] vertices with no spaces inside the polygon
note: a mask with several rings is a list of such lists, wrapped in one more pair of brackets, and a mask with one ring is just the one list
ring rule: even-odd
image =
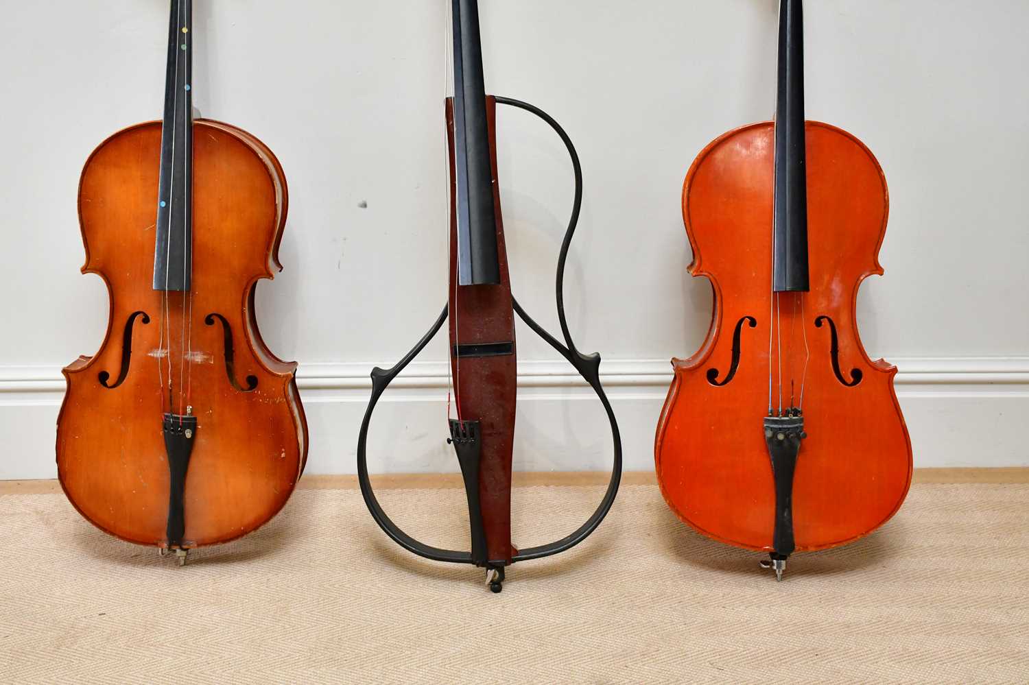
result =
[{"label": "whole skeletal cello with dark red core and open black frame", "polygon": [[[399,362],[389,369],[372,369],[371,398],[358,435],[357,473],[368,510],[397,544],[433,561],[485,568],[490,589],[499,592],[505,570],[511,564],[565,551],[597,529],[617,494],[622,475],[622,441],[614,412],[600,384],[600,355],[580,353],[572,341],[565,320],[565,260],[582,200],[578,155],[568,135],[542,110],[510,98],[486,95],[478,3],[476,0],[451,0],[450,5],[454,97],[446,101],[451,173],[449,302],[428,332]],[[537,324],[511,295],[497,182],[497,104],[517,107],[543,119],[558,134],[571,156],[575,196],[558,257],[556,278],[558,320],[564,342]],[[606,411],[613,441],[611,476],[594,513],[560,540],[525,549],[518,549],[511,544],[510,534],[511,456],[518,384],[516,314],[593,388]],[[447,441],[454,445],[467,495],[468,551],[427,545],[404,533],[379,504],[367,468],[367,434],[379,398],[448,319],[457,418],[448,417]]]}]

